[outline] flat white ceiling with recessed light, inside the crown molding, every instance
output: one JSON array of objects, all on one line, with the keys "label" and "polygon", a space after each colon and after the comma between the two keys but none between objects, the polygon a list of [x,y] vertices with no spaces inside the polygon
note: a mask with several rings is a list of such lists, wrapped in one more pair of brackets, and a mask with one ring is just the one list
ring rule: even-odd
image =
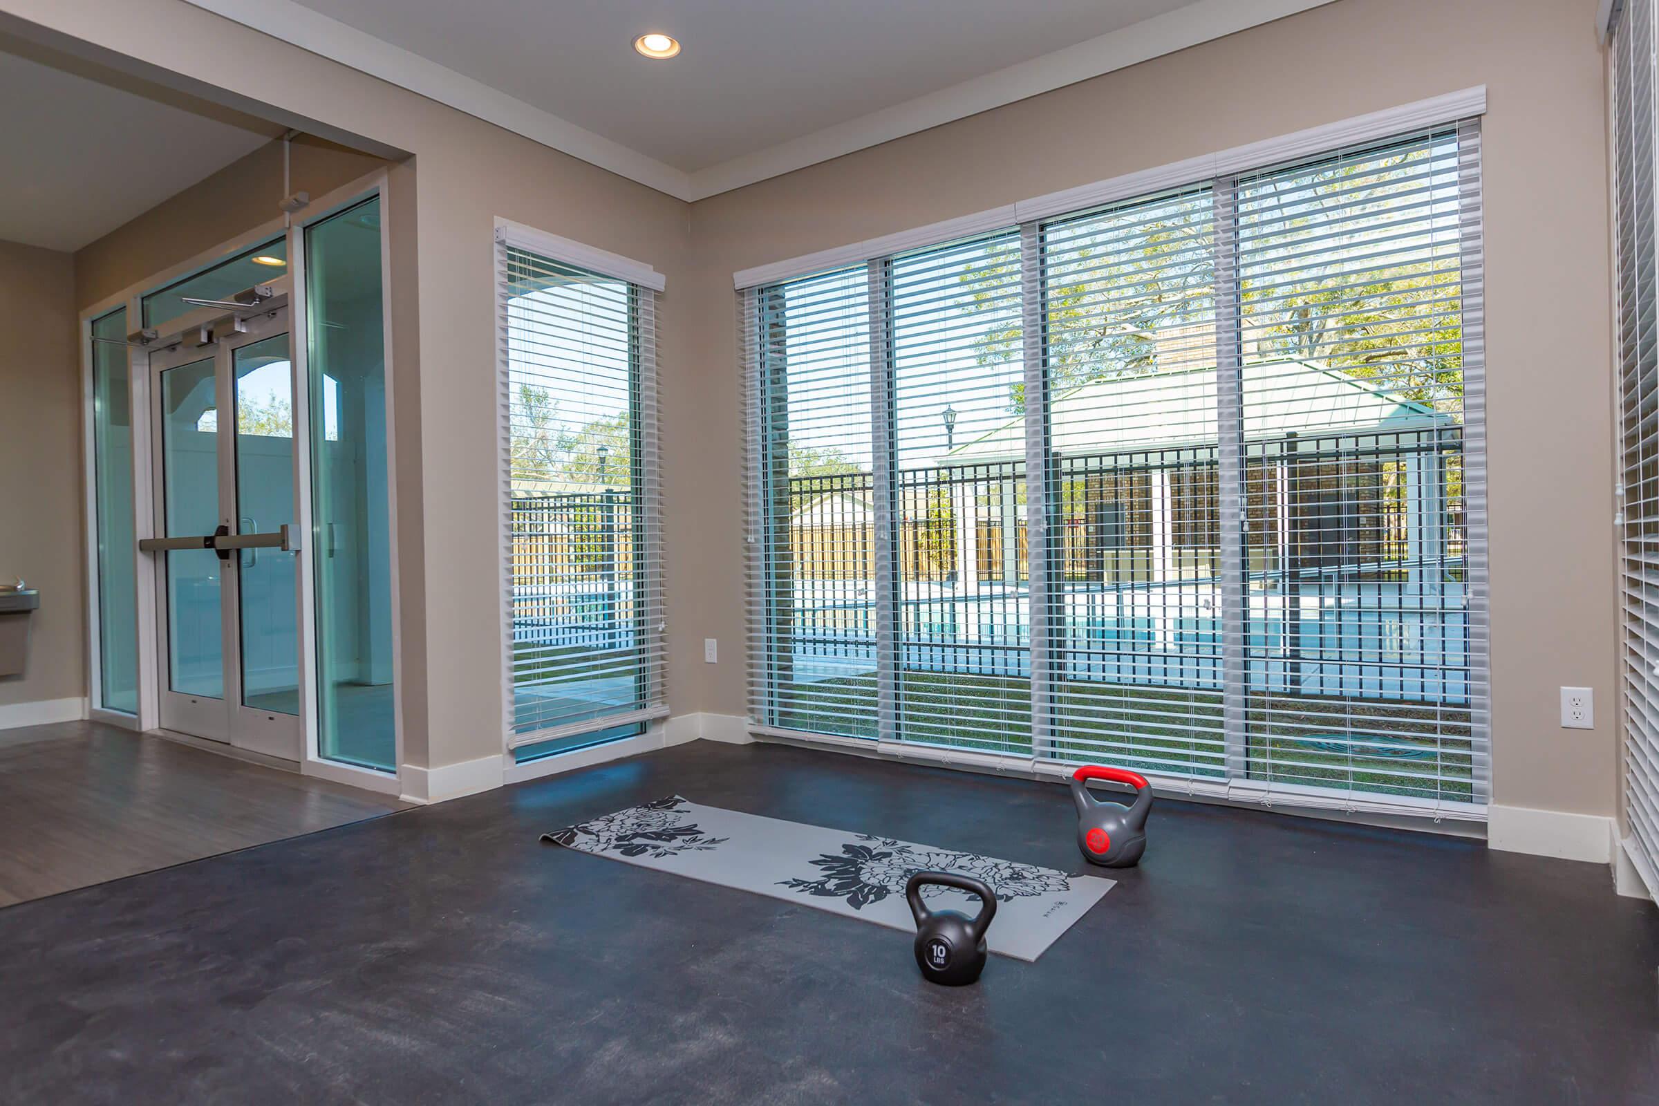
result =
[{"label": "flat white ceiling with recessed light, inside the crown molding", "polygon": [[[1193,0],[300,0],[685,172]],[[650,61],[647,30],[684,53]]]}]

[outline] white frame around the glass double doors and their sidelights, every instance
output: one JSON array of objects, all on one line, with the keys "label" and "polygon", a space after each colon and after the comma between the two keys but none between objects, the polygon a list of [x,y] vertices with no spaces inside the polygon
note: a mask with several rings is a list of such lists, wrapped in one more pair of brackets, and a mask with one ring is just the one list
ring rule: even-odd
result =
[{"label": "white frame around the glass double doors and their sidelights", "polygon": [[[156,572],[154,557],[133,549],[131,555],[136,562],[136,597],[138,597],[138,617],[134,632],[134,650],[138,657],[138,713],[129,715],[126,711],[108,710],[101,703],[103,690],[103,672],[101,672],[101,638],[100,638],[100,602],[98,602],[98,499],[93,474],[96,473],[95,463],[95,434],[93,434],[93,340],[91,340],[91,323],[113,310],[126,310],[126,328],[128,332],[138,332],[141,327],[141,303],[143,297],[151,292],[168,287],[178,280],[189,275],[202,272],[226,260],[249,250],[251,247],[269,242],[275,237],[287,239],[289,250],[289,323],[290,333],[295,335],[292,342],[292,358],[295,366],[297,390],[294,396],[294,420],[295,420],[295,436],[299,441],[309,446],[309,411],[305,410],[309,398],[309,342],[304,340],[307,333],[307,303],[305,303],[305,229],[315,222],[320,222],[340,211],[352,207],[367,199],[380,201],[380,280],[382,280],[382,327],[385,335],[385,426],[387,426],[387,511],[388,511],[388,527],[392,534],[390,541],[390,587],[392,587],[392,665],[393,665],[393,725],[395,725],[395,764],[397,771],[385,773],[372,768],[362,768],[357,764],[345,764],[340,761],[325,761],[319,758],[317,746],[317,696],[315,696],[315,574],[314,562],[307,551],[300,551],[297,555],[299,574],[300,574],[300,657],[302,657],[302,675],[300,675],[300,726],[302,726],[302,759],[297,763],[299,771],[307,776],[317,776],[322,779],[333,779],[355,788],[365,788],[368,791],[377,791],[382,794],[406,794],[408,788],[403,786],[405,776],[405,693],[408,690],[406,672],[403,663],[401,650],[401,585],[398,570],[398,483],[397,483],[397,418],[395,418],[395,391],[397,391],[397,373],[393,368],[393,284],[392,284],[392,235],[388,229],[397,226],[397,219],[401,217],[400,201],[403,199],[401,189],[390,187],[390,172],[387,169],[377,169],[365,174],[350,184],[345,184],[332,192],[327,192],[314,199],[300,214],[290,217],[275,217],[260,222],[244,234],[232,239],[219,242],[217,245],[206,249],[184,262],[169,265],[158,270],[156,274],[123,289],[121,292],[105,297],[91,303],[80,312],[81,327],[81,448],[83,448],[83,532],[85,532],[85,572],[83,572],[83,610],[85,632],[86,632],[86,715],[98,721],[106,721],[109,725],[123,726],[134,731],[149,731],[161,728],[159,715],[159,686],[161,673],[158,670],[158,652],[154,648],[156,637]],[[222,315],[224,312],[217,312]],[[202,308],[202,318],[196,318],[196,313],[176,320],[169,328],[181,323],[206,322],[207,317],[214,315],[212,308]],[[149,352],[143,345],[129,343],[128,350],[128,388],[129,388],[129,405],[134,411],[133,420],[133,522],[134,537],[154,537],[154,517],[156,507],[153,499],[153,481],[143,479],[139,474],[148,474],[154,468],[153,454],[156,451],[156,443],[151,436],[149,418],[138,418],[136,413],[148,413],[151,410],[151,380],[149,380]],[[312,489],[310,489],[310,449],[295,449],[299,461],[299,473],[295,478],[295,494],[299,501],[299,526],[302,534],[302,544],[309,544],[305,537],[310,534],[312,524]]]}]

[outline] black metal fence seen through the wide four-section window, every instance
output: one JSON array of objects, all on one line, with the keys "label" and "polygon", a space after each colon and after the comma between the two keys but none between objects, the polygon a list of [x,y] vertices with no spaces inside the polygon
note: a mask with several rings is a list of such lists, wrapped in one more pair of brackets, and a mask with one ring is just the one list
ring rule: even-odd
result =
[{"label": "black metal fence seen through the wide four-section window", "polygon": [[[1251,690],[1470,701],[1458,434],[1249,443],[1244,479]],[[1057,481],[1058,678],[1219,688],[1214,449],[1063,458]],[[899,662],[1029,675],[1024,464],[904,471],[896,491]],[[874,667],[869,476],[793,478],[785,517],[771,589],[796,678]]]}]

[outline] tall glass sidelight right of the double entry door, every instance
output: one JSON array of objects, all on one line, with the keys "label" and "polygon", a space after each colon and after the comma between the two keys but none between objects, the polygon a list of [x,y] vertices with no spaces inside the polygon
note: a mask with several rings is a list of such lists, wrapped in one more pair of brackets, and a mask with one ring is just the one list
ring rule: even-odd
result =
[{"label": "tall glass sidelight right of the double entry door", "polygon": [[397,768],[380,199],[305,230],[317,748]]}]

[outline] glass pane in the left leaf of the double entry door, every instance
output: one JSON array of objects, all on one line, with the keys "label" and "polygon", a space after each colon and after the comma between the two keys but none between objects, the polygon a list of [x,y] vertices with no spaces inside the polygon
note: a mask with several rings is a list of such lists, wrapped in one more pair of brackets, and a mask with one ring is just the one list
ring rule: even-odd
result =
[{"label": "glass pane in the left leaf of the double entry door", "polygon": [[[166,537],[219,526],[219,405],[211,357],[161,373],[161,473]],[[224,698],[219,557],[211,549],[166,554],[168,686]]]}]

